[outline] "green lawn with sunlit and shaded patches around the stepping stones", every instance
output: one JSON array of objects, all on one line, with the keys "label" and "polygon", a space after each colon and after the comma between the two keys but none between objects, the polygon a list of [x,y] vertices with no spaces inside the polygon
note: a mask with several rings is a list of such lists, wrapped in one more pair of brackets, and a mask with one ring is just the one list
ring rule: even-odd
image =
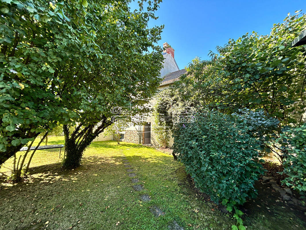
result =
[{"label": "green lawn with sunlit and shaded patches around the stepping stones", "polygon": [[[48,144],[63,142],[62,137],[50,137]],[[0,229],[152,230],[169,229],[175,220],[184,229],[211,230],[231,229],[235,223],[194,192],[181,163],[154,148],[93,142],[82,165],[73,171],[61,169],[58,153],[58,149],[37,151],[25,182],[12,185],[1,178]],[[123,155],[144,190],[133,189]],[[11,166],[12,159],[1,172],[7,174]],[[141,194],[148,194],[151,201],[140,201]],[[163,216],[153,216],[154,206]],[[289,209],[280,209],[275,207],[273,215],[258,211],[244,216],[247,229],[304,228],[305,223]]]}]

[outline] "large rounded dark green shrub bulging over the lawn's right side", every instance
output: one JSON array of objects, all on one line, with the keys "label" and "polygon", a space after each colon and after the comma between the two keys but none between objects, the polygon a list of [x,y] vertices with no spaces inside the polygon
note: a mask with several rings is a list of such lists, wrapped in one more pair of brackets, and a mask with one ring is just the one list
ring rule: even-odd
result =
[{"label": "large rounded dark green shrub bulging over the lawn's right side", "polygon": [[206,111],[194,123],[179,123],[173,132],[178,159],[196,187],[217,203],[242,204],[257,194],[254,182],[263,174],[258,159],[263,141],[243,121]]}]

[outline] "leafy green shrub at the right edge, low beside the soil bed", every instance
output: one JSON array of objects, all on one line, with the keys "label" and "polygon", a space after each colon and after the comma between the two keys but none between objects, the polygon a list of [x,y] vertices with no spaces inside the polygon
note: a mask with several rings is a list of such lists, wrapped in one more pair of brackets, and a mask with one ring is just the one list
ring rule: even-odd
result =
[{"label": "leafy green shrub at the right edge, low beside the soil bed", "polygon": [[287,128],[278,139],[283,153],[284,171],[287,175],[283,184],[301,194],[306,192],[306,124],[297,128]]}]

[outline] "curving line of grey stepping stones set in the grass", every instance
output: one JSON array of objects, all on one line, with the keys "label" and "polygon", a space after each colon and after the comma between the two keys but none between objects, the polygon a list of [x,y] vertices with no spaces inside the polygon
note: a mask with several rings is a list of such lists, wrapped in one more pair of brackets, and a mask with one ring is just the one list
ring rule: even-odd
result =
[{"label": "curving line of grey stepping stones set in the grass", "polygon": [[[127,157],[123,154],[122,154],[122,160],[123,160],[123,163],[125,164],[125,168],[127,168],[126,171],[127,172],[132,172],[133,171],[133,169],[131,168],[132,166],[130,165]],[[129,177],[136,177],[136,174],[135,173],[129,173]],[[138,178],[132,178],[131,181],[132,181],[132,183],[138,183],[139,179]],[[143,185],[136,184],[136,185],[133,185],[133,189],[135,191],[139,192],[139,191],[144,190],[144,187],[143,187]],[[142,195],[140,195],[140,200],[143,201],[143,202],[148,202],[148,201],[151,201],[151,197],[148,194],[142,194]],[[150,212],[153,213],[153,215],[156,218],[165,215],[165,213],[157,206],[150,207]],[[175,220],[168,225],[168,228],[170,230],[184,230],[184,228],[181,227],[180,225],[178,225]]]}]

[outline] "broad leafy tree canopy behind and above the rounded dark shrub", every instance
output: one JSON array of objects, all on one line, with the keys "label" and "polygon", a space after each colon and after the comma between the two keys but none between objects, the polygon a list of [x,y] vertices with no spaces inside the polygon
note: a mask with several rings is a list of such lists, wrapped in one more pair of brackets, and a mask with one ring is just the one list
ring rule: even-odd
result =
[{"label": "broad leafy tree canopy behind and above the rounded dark shrub", "polygon": [[306,15],[296,11],[274,24],[269,35],[253,31],[217,47],[209,61],[194,59],[181,77],[181,98],[226,113],[263,109],[282,125],[300,125],[306,107],[306,50],[290,44],[304,29]]}]

